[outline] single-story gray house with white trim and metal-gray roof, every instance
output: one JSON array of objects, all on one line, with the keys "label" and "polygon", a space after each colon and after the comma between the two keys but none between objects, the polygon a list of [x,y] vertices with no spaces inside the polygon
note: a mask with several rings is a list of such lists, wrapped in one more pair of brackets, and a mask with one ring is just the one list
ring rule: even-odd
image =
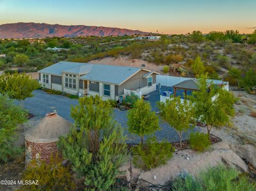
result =
[{"label": "single-story gray house with white trim and metal-gray roof", "polygon": [[99,95],[118,100],[124,90],[137,90],[142,95],[156,90],[157,72],[143,68],[105,64],[58,62],[38,71],[45,88],[74,95]]}]

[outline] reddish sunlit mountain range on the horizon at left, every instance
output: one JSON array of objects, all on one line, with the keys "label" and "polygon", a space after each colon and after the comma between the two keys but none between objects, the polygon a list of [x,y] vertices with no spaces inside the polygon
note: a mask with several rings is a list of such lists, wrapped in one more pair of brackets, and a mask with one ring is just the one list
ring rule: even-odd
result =
[{"label": "reddish sunlit mountain range on the horizon at left", "polygon": [[123,36],[146,35],[140,30],[96,27],[84,25],[60,25],[46,23],[10,23],[0,25],[0,38],[44,38],[44,37],[77,37],[77,36]]}]

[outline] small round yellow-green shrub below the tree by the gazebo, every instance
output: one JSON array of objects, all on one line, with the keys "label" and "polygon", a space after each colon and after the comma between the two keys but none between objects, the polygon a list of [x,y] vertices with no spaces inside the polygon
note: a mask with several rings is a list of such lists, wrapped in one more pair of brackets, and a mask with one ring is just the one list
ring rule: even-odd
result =
[{"label": "small round yellow-green shrub below the tree by the gazebo", "polygon": [[191,132],[189,143],[191,148],[198,152],[205,151],[211,145],[208,135],[203,132]]}]

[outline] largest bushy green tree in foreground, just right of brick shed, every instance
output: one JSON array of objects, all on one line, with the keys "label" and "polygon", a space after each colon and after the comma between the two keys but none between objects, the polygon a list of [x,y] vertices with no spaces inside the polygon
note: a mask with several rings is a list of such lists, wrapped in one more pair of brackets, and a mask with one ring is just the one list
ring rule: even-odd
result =
[{"label": "largest bushy green tree in foreground, just right of brick shed", "polygon": [[111,190],[126,159],[123,131],[113,118],[109,102],[99,96],[79,98],[71,108],[74,127],[61,137],[59,147],[85,186]]}]

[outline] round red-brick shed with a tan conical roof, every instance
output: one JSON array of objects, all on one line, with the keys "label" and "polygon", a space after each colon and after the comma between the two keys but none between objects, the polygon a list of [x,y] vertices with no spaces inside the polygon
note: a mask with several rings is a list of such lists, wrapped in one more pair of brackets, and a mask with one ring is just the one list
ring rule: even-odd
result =
[{"label": "round red-brick shed with a tan conical roof", "polygon": [[51,156],[61,158],[57,147],[60,136],[68,134],[71,123],[60,117],[56,111],[49,112],[36,126],[25,134],[26,164],[35,159],[50,162]]}]

